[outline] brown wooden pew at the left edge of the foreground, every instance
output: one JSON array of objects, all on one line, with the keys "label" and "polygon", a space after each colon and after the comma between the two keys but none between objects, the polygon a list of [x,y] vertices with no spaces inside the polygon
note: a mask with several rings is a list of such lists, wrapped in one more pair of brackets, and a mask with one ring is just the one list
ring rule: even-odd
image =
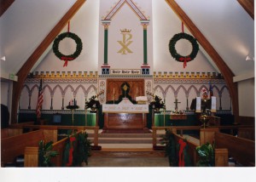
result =
[{"label": "brown wooden pew at the left edge of the foreground", "polygon": [[54,141],[54,130],[37,130],[1,139],[1,165],[14,162],[16,156],[24,155],[26,146],[38,146],[41,139]]}]

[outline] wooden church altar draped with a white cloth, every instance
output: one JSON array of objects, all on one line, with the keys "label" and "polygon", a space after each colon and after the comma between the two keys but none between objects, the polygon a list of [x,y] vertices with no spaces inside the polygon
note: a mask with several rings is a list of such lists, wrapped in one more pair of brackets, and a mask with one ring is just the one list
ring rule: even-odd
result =
[{"label": "wooden church altar draped with a white cloth", "polygon": [[123,98],[118,105],[103,104],[104,128],[146,128],[148,105],[133,105]]}]

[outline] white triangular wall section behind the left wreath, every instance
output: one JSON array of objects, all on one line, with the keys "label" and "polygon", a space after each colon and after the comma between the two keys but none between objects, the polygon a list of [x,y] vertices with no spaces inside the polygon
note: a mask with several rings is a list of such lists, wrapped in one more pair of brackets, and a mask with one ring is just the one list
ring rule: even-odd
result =
[{"label": "white triangular wall section behind the left wreath", "polygon": [[[52,51],[52,44],[48,48],[47,54],[33,71],[97,71],[98,68],[98,29],[99,29],[99,2],[100,0],[87,0],[79,9],[78,13],[70,20],[70,32],[75,33],[82,40],[83,49],[79,57],[73,61],[68,61],[63,67],[64,61],[55,56]],[[90,27],[90,28],[88,28]],[[61,32],[66,32],[67,26]],[[61,34],[60,32],[60,34]],[[63,46],[66,38],[60,43],[62,54],[73,54],[74,49]],[[73,45],[73,40],[68,40],[67,44]]]}]

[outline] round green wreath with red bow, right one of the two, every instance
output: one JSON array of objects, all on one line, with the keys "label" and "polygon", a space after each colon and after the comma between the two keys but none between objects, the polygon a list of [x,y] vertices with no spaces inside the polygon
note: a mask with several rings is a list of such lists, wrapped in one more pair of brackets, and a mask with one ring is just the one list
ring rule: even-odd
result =
[{"label": "round green wreath with red bow, right one of the two", "polygon": [[[177,41],[179,41],[180,39],[186,39],[192,44],[192,51],[189,55],[183,56],[177,53],[175,45]],[[183,32],[177,33],[172,37],[172,39],[169,42],[169,51],[172,54],[172,57],[179,62],[183,62],[183,68],[186,67],[187,62],[195,59],[196,54],[198,53],[198,50],[199,50],[199,45],[196,39],[187,33],[183,33]]]}]

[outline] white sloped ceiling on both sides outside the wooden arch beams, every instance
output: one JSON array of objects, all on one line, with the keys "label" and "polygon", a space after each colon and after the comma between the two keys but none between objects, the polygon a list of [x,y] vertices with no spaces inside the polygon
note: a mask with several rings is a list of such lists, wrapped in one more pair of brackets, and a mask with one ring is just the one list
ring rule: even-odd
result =
[{"label": "white sloped ceiling on both sides outside the wooden arch beams", "polygon": [[[22,0],[15,1],[9,7],[0,18],[0,57],[6,56],[5,61],[0,60],[1,77],[3,73],[17,73],[20,70],[74,2]],[[254,58],[254,20],[236,0],[176,2],[207,37],[235,76],[254,75],[254,61],[246,61],[247,55]],[[207,53],[204,54],[211,61]]]}]

